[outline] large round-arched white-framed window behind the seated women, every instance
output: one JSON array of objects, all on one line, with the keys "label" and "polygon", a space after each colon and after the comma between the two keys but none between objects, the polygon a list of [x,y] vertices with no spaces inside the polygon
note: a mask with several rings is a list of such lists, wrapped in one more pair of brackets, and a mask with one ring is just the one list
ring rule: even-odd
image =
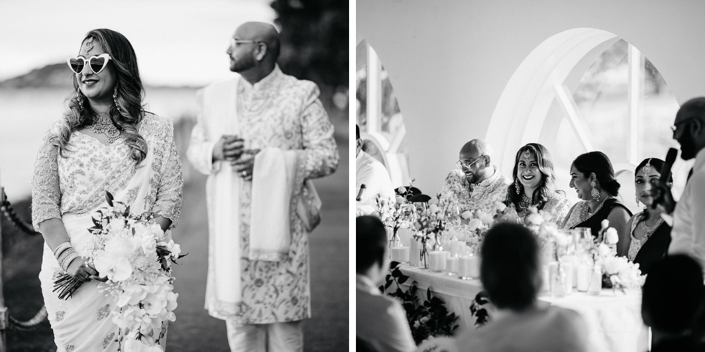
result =
[{"label": "large round-arched white-framed window behind the seated women", "polygon": [[[498,102],[487,139],[499,146],[502,170],[512,170],[520,146],[544,144],[558,187],[574,202],[570,164],[581,153],[603,151],[618,174],[625,205],[638,211],[634,169],[678,146],[669,128],[678,108],[666,80],[635,46],[610,32],[576,28],[546,39],[522,62]],[[683,164],[676,163],[674,177],[685,181],[689,166]],[[680,196],[685,182],[675,184]]]}]

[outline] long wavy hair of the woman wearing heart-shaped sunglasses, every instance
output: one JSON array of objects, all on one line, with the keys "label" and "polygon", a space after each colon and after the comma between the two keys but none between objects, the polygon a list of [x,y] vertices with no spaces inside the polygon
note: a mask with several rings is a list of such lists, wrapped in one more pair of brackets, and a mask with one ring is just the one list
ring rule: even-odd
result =
[{"label": "long wavy hair of the woman wearing heart-shaped sunglasses", "polygon": [[[145,87],[140,79],[140,70],[137,68],[135,49],[123,34],[114,30],[104,28],[92,30],[86,33],[82,42],[88,38],[97,40],[106,53],[110,54],[108,65],[112,65],[115,70],[118,95],[117,106],[110,108],[109,115],[118,130],[125,134],[125,142],[130,147],[130,157],[139,164],[147,157],[147,141],[137,132],[137,123],[145,117],[145,109],[142,106]],[[52,141],[54,146],[59,147],[59,155],[62,157],[65,157],[63,151],[70,151],[68,147],[73,146],[69,141],[71,133],[90,125],[95,115],[88,99],[80,93],[77,76],[73,75],[75,90],[66,98],[67,108],[59,124],[59,132]],[[80,108],[79,99],[83,108]]]}]

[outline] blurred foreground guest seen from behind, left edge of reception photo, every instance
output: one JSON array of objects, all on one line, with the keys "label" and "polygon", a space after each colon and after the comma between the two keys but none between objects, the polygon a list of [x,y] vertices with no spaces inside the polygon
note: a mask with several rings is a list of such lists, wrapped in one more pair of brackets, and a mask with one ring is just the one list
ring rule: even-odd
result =
[{"label": "blurred foreground guest seen from behind, left edge of reception photo", "polygon": [[389,267],[384,225],[373,216],[360,216],[355,219],[355,226],[357,339],[379,352],[414,351],[416,344],[404,308],[378,288]]}]

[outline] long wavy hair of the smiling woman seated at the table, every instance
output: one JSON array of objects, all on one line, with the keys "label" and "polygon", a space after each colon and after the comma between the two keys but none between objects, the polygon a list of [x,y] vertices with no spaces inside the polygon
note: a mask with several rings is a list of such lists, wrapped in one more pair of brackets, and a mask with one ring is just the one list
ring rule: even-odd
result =
[{"label": "long wavy hair of the smiling woman seated at the table", "polygon": [[543,144],[529,143],[522,146],[519,151],[517,151],[517,156],[514,158],[514,169],[512,170],[512,184],[507,189],[507,201],[506,203],[514,203],[517,207],[517,211],[524,209],[519,208],[519,202],[522,200],[522,194],[524,194],[524,186],[520,183],[520,192],[517,194],[517,169],[519,168],[519,158],[525,151],[529,151],[536,156],[537,163],[539,164],[539,172],[541,172],[541,184],[537,189],[534,190],[533,199],[534,204],[537,205],[539,209],[544,208],[544,204],[548,201],[553,194],[556,193],[556,176],[553,175],[553,161],[551,161],[551,153],[548,153]]}]

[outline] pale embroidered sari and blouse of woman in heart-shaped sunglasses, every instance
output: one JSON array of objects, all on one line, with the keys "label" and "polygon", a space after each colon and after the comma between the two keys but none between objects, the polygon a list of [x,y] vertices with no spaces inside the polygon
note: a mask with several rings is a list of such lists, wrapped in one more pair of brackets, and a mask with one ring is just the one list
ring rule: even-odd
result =
[{"label": "pale embroidered sari and blouse of woman in heart-shaped sunglasses", "polygon": [[[79,256],[87,256],[92,214],[107,207],[105,191],[135,213],[151,211],[172,221],[176,227],[181,211],[183,178],[173,140],[171,119],[146,113],[140,135],[147,142],[147,157],[139,167],[130,158],[130,148],[120,138],[110,145],[75,131],[72,146],[59,156],[51,140],[58,124],[47,132],[39,147],[32,179],[32,223],[59,218]],[[63,272],[54,253],[44,244],[42,283],[44,305],[49,313],[54,341],[60,352],[118,351],[114,341],[118,326],[110,318],[116,308],[113,298],[99,291],[95,280],[82,284],[68,300],[59,299],[54,289],[56,275]]]}]

